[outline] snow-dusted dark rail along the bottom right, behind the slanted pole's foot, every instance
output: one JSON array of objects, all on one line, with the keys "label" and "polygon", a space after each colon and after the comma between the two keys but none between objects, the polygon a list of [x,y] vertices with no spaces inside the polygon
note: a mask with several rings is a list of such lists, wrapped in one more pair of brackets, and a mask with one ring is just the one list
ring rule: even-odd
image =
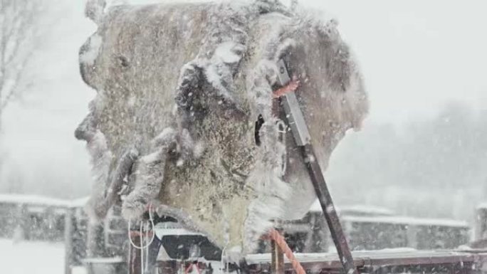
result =
[{"label": "snow-dusted dark rail along the bottom right, behind the slanted pole's foot", "polygon": [[[354,265],[360,273],[475,273],[487,259],[487,253],[461,251],[414,251],[388,249],[384,251],[352,252]],[[315,273],[337,273],[342,265],[336,253],[297,253],[306,270]],[[246,256],[247,267],[252,273],[266,273],[270,268],[271,254]],[[285,273],[292,273],[285,259]],[[462,272],[460,272],[462,271]]]}]

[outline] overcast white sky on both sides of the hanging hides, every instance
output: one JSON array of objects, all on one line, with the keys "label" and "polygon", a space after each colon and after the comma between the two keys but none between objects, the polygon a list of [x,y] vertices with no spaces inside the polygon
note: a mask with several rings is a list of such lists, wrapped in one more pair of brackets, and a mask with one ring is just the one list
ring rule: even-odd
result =
[{"label": "overcast white sky on both sides of the hanging hides", "polygon": [[[78,48],[95,25],[83,18],[83,1],[62,3],[46,46],[33,60],[36,87],[6,111],[0,139],[8,154],[0,184],[20,172],[32,191],[56,196],[90,184],[84,144],[74,139],[73,130],[94,96],[79,76]],[[300,3],[340,22],[370,93],[367,123],[431,116],[449,100],[487,107],[486,1]],[[66,181],[66,188],[51,186],[51,180]]]}]

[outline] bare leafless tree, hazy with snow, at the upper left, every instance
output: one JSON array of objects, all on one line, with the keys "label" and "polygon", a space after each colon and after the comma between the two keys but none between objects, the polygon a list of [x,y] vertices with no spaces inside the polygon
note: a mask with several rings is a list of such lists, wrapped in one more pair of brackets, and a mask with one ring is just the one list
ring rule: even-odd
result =
[{"label": "bare leafless tree, hazy with snow, at the upper left", "polygon": [[26,68],[41,28],[41,0],[0,0],[0,125],[1,116],[28,86]]}]

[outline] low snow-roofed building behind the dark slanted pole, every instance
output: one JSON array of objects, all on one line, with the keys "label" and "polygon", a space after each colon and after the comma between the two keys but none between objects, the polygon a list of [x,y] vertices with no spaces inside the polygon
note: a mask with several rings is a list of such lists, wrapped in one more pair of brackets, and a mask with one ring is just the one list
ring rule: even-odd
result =
[{"label": "low snow-roofed building behind the dark slanted pole", "polygon": [[[390,209],[365,205],[342,206],[337,213],[353,251],[451,249],[470,241],[471,229],[465,221],[397,216]],[[328,252],[334,247],[318,201],[300,220],[279,225],[293,251]],[[269,248],[268,243],[261,242],[261,252]]]}]

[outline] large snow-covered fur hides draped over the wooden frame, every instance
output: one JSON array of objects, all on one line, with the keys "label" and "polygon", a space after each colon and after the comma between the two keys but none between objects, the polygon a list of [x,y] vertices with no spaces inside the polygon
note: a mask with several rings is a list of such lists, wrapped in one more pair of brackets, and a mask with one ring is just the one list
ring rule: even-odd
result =
[{"label": "large snow-covered fur hides draped over the wooden frame", "polygon": [[127,151],[140,154],[126,178],[126,218],[152,202],[227,251],[247,253],[270,220],[305,214],[315,193],[272,98],[281,58],[300,79],[296,95],[323,169],[367,112],[336,22],[295,4],[115,6],[95,18],[80,70],[98,95],[76,135],[98,174],[94,197],[104,194],[95,207],[106,205],[97,201],[117,185]]}]

